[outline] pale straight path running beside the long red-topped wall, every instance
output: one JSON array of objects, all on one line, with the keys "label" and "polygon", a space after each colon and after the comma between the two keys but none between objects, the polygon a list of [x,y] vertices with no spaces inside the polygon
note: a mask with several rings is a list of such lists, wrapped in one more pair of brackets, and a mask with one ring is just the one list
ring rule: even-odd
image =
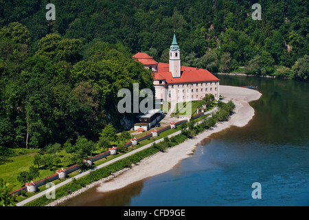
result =
[{"label": "pale straight path running beside the long red-topped wall", "polygon": [[[217,109],[217,107],[215,107],[214,109],[211,109],[210,111],[207,111],[206,113],[210,113],[210,112],[216,111],[216,109]],[[205,113],[205,114],[206,114],[206,113]],[[199,122],[197,122],[196,124],[201,124],[201,122],[203,122],[203,121],[199,121]],[[181,133],[181,131],[176,131],[175,133],[172,133],[172,134],[168,135],[168,137],[170,138],[170,137],[172,137],[172,136],[174,136],[174,135],[179,135],[179,133]],[[163,141],[163,139],[164,139],[164,138],[161,138],[161,139],[159,139],[159,140],[156,140],[155,143],[159,143],[159,142]],[[134,150],[134,151],[130,151],[129,153],[126,153],[126,154],[124,154],[124,155],[121,155],[121,156],[119,156],[119,157],[116,157],[115,159],[111,159],[110,161],[108,161],[108,162],[106,162],[106,163],[104,163],[104,164],[101,164],[101,165],[99,165],[99,166],[95,166],[94,168],[91,168],[91,169],[89,169],[89,170],[87,170],[87,171],[85,171],[85,172],[83,172],[83,173],[80,173],[80,174],[76,175],[75,177],[72,177],[72,178],[70,178],[70,179],[67,179],[67,180],[65,180],[65,181],[62,181],[60,184],[57,184],[56,186],[54,186],[54,187],[55,187],[55,190],[56,190],[57,188],[60,188],[61,186],[65,186],[65,184],[68,184],[69,182],[71,182],[71,181],[73,180],[73,178],[79,179],[80,177],[84,177],[84,175],[89,174],[89,173],[90,173],[91,171],[93,171],[93,170],[98,170],[98,169],[100,169],[100,168],[102,168],[102,167],[104,167],[104,166],[108,166],[109,164],[112,164],[112,163],[114,163],[114,162],[117,162],[119,159],[124,159],[124,158],[129,157],[130,155],[133,155],[133,154],[135,154],[135,153],[137,153],[137,152],[139,152],[139,151],[143,151],[144,149],[146,149],[146,148],[152,146],[153,143],[154,143],[154,142],[151,142],[150,144],[146,144],[145,146],[141,146],[140,148],[137,148],[137,149]],[[39,197],[42,197],[42,196],[44,196],[44,195],[49,195],[49,193],[50,193],[49,191],[50,191],[50,190],[51,190],[51,188],[47,188],[46,190],[44,190],[44,191],[42,191],[42,192],[39,192],[38,194],[33,195],[33,196],[30,197],[30,198],[27,198],[27,199],[25,199],[25,200],[23,200],[23,201],[21,201],[21,202],[19,202],[19,203],[16,203],[16,206],[24,206],[26,203],[28,203],[28,202],[30,202],[30,201],[33,201],[34,199],[38,199]]]}]

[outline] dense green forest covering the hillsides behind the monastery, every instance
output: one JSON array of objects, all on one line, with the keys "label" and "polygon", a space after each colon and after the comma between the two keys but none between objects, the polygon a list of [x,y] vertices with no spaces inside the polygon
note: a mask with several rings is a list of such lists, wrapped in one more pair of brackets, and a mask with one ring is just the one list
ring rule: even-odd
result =
[{"label": "dense green forest covering the hillsides behind the monastery", "polygon": [[[47,21],[47,3],[56,20]],[[254,3],[262,20],[253,20]],[[175,32],[182,65],[308,80],[305,0],[0,0],[0,146],[43,148],[107,124],[128,129],[117,91],[153,87],[133,61],[168,63]]]}]

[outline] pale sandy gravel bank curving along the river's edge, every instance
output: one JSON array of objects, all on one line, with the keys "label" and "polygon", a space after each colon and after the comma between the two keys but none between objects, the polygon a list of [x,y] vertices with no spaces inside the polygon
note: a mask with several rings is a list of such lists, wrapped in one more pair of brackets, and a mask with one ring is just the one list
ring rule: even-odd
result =
[{"label": "pale sandy gravel bank curving along the river's edge", "polygon": [[182,144],[169,148],[164,153],[159,152],[155,155],[142,159],[137,166],[120,170],[109,177],[101,179],[93,184],[89,184],[89,186],[73,192],[67,197],[63,197],[53,203],[50,203],[49,206],[59,205],[63,201],[66,201],[71,197],[75,197],[76,195],[79,195],[80,193],[95,186],[98,186],[98,191],[107,192],[123,188],[128,184],[132,184],[135,181],[139,181],[147,177],[165,173],[166,171],[172,169],[182,159],[190,157],[198,143],[206,137],[209,137],[212,133],[222,131],[230,126],[246,125],[254,115],[254,109],[249,105],[249,102],[258,100],[258,98],[262,96],[262,94],[255,90],[229,86],[220,86],[220,94],[225,97],[225,102],[233,100],[236,105],[236,109],[234,110],[233,115],[231,115],[229,121],[218,122],[211,129],[204,131],[192,139],[185,140]]}]

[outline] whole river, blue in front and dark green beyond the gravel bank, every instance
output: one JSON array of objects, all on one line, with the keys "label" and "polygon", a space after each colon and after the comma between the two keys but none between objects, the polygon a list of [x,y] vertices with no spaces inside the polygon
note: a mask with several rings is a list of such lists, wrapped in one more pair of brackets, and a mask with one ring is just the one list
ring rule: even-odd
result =
[{"label": "whole river, blue in front and dark green beyond the gravel bank", "polygon": [[92,188],[62,206],[309,206],[309,83],[218,78],[258,86],[249,124],[211,135],[166,173],[113,192]]}]

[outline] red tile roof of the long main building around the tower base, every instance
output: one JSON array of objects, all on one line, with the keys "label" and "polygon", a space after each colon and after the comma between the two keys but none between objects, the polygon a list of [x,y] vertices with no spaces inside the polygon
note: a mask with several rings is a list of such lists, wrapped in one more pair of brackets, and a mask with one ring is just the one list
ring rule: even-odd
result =
[{"label": "red tile roof of the long main building around the tower base", "polygon": [[216,76],[207,69],[181,66],[181,77],[173,78],[168,63],[159,63],[158,72],[155,73],[155,80],[166,80],[166,83],[198,83],[207,81],[219,81]]}]

